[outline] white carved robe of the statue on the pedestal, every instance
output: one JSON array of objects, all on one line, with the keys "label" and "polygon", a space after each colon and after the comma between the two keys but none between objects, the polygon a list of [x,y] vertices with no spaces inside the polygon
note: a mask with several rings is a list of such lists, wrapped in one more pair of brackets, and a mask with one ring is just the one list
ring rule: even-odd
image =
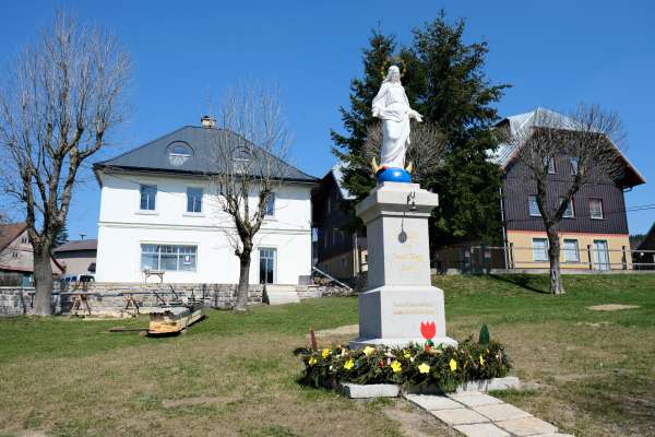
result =
[{"label": "white carved robe of the statue on the pedestal", "polygon": [[409,144],[409,101],[402,84],[384,82],[373,98],[373,116],[382,120],[380,166],[405,168]]}]

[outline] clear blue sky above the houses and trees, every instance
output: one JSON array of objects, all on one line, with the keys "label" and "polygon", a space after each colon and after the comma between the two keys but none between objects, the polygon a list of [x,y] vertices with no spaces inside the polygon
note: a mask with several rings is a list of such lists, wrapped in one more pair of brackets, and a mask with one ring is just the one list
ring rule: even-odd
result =
[{"label": "clear blue sky above the houses and trees", "polygon": [[[620,114],[628,157],[648,184],[627,204],[655,202],[653,103],[655,3],[652,1],[33,1],[0,4],[4,63],[56,8],[110,28],[134,60],[130,118],[103,156],[138,146],[183,125],[199,125],[226,86],[278,85],[295,133],[293,164],[322,176],[334,164],[330,128],[341,129],[361,48],[372,27],[400,43],[445,9],[467,21],[466,39],[489,44],[487,75],[513,85],[501,115],[545,106],[568,111],[580,102]],[[97,235],[99,189],[90,178],[69,215],[69,234]],[[629,213],[631,233],[646,232],[655,210]]]}]

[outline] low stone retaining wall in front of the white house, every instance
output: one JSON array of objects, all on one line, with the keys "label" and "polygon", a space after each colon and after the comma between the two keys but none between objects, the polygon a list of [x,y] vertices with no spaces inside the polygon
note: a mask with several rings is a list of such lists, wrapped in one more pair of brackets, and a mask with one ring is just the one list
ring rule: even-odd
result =
[{"label": "low stone retaining wall in front of the white house", "polygon": [[[203,300],[211,308],[228,309],[236,303],[236,285],[234,284],[132,284],[132,283],[90,283],[86,293],[88,306],[93,315],[119,316],[126,307],[131,294],[139,306],[153,307],[160,304],[159,295],[166,302],[174,298],[170,286],[182,300],[191,297]],[[68,314],[73,305],[74,290],[59,290],[53,284],[52,308],[56,315]],[[321,296],[343,296],[350,291],[333,286],[301,286],[296,293],[303,298]],[[28,316],[32,314],[34,288],[32,287],[0,287],[0,317]],[[262,303],[262,286],[251,285],[248,303]],[[82,314],[82,311],[80,311]]]}]

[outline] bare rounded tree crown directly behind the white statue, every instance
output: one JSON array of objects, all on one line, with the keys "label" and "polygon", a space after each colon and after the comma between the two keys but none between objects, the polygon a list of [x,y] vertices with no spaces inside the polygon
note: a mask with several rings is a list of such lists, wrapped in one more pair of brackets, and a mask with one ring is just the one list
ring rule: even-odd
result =
[{"label": "bare rounded tree crown directly behind the white statue", "polygon": [[[445,137],[439,129],[429,122],[413,123],[410,142],[405,156],[405,166],[412,163],[413,181],[421,184],[427,175],[433,174],[434,168],[442,165],[445,154]],[[367,130],[364,143],[364,154],[367,163],[380,158],[382,146],[382,123],[377,122]],[[371,168],[371,177],[372,168]]]}]

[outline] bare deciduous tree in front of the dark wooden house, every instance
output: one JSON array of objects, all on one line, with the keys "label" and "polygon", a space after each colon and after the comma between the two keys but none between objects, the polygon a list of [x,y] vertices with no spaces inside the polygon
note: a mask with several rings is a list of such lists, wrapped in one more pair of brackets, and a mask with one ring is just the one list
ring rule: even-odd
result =
[{"label": "bare deciduous tree in front of the dark wooden house", "polygon": [[[536,200],[548,236],[550,292],[565,293],[560,276],[559,225],[571,199],[583,186],[623,174],[620,146],[624,140],[617,114],[580,105],[569,117],[537,109],[534,118],[512,132],[516,157],[536,185]],[[558,157],[568,157],[567,176],[549,175]]]}]

